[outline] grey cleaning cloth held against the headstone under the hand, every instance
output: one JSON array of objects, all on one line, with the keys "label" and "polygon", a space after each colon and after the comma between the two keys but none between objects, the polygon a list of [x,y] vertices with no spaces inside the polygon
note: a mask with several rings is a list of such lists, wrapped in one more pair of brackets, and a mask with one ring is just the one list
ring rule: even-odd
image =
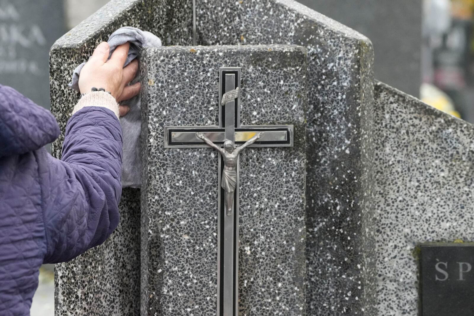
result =
[{"label": "grey cleaning cloth held against the headstone under the hand", "polygon": [[[110,46],[109,58],[118,45],[127,42],[130,42],[130,49],[128,50],[128,57],[124,67],[140,54],[140,48],[161,46],[161,40],[150,32],[142,31],[135,27],[120,27],[110,35],[107,41]],[[84,65],[85,63],[82,63],[74,70],[73,81],[69,83],[69,86],[76,91],[79,91],[79,74]],[[138,72],[137,77],[132,83],[139,80],[140,73]],[[122,187],[140,188],[140,95],[122,103],[130,107],[128,114],[124,117],[120,117],[120,125],[122,126],[123,133]]]}]

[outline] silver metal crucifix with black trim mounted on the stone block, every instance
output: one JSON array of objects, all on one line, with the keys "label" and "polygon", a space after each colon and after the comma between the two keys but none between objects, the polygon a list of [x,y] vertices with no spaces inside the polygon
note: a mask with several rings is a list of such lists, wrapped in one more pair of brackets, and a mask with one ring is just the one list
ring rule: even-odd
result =
[{"label": "silver metal crucifix with black trim mounted on the stone block", "polygon": [[240,67],[219,69],[219,126],[164,127],[165,148],[219,152],[218,316],[238,316],[239,153],[247,146],[293,146],[292,125],[240,125],[240,79]]}]

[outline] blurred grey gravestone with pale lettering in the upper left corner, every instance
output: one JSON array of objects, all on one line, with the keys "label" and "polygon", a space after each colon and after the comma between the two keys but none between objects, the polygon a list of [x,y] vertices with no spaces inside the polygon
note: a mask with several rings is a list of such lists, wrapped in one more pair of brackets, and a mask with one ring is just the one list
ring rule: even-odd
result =
[{"label": "blurred grey gravestone with pale lettering in the upper left corner", "polygon": [[49,48],[65,33],[63,0],[0,0],[0,84],[48,108]]}]

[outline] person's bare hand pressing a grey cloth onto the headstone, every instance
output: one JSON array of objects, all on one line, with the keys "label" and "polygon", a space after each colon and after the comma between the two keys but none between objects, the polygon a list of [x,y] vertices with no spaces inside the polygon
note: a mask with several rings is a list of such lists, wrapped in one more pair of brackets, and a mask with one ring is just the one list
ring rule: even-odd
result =
[{"label": "person's bare hand pressing a grey cloth onto the headstone", "polygon": [[[104,88],[110,91],[117,102],[128,100],[140,92],[140,82],[128,85],[135,78],[138,70],[138,61],[134,60],[123,67],[130,44],[118,46],[109,60],[110,47],[107,42],[100,43],[89,61],[84,65],[79,76],[79,90],[81,93],[91,92],[92,87]],[[119,106],[119,114],[128,113],[128,106]]]}]

